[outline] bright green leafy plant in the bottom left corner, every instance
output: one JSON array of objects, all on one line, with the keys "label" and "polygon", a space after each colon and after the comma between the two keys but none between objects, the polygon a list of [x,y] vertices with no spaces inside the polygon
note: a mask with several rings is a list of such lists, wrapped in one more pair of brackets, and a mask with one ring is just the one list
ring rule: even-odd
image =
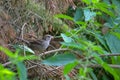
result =
[{"label": "bright green leafy plant in the bottom left corner", "polygon": [[[9,56],[11,63],[16,65],[17,72],[13,72],[7,68],[4,68],[2,65],[0,65],[0,79],[1,80],[16,80],[16,75],[18,74],[18,78],[20,80],[27,80],[27,69],[25,65],[23,64],[24,60],[30,60],[30,59],[37,59],[35,56],[20,56],[19,50],[17,50],[15,53],[9,51],[8,49],[0,46],[0,51],[3,51],[6,53],[7,56]],[[12,68],[12,67],[11,67]],[[4,76],[5,75],[5,76]],[[16,78],[15,78],[16,77]]]}]

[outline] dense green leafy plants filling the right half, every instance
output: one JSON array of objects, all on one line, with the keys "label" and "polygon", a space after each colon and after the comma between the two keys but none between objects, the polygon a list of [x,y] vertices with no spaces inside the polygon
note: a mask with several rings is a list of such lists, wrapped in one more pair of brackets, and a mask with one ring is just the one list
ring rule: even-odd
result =
[{"label": "dense green leafy plants filling the right half", "polygon": [[[120,58],[99,57],[100,55],[116,54],[120,52],[120,22],[119,13],[116,12],[119,10],[118,3],[120,2],[118,0],[111,1],[112,3],[110,3],[110,0],[82,0],[85,6],[78,6],[74,17],[65,14],[55,15],[57,18],[73,21],[76,26],[76,28],[61,34],[64,40],[64,42],[61,43],[61,47],[67,47],[71,50],[77,51],[79,55],[84,55],[85,59],[76,58],[75,62],[68,62],[68,64],[64,66],[63,73],[67,80],[69,80],[67,74],[72,71],[72,69],[76,69],[76,66],[79,69],[79,74],[76,76],[79,80],[106,80],[105,77],[109,79],[110,75],[113,76],[114,80],[120,79],[120,69],[117,69],[117,71],[109,66],[111,63],[119,64]],[[104,23],[99,21],[100,16]],[[105,34],[101,31],[104,27],[109,28],[105,31]],[[74,54],[74,52],[72,52],[72,54]],[[54,56],[54,58],[59,58],[58,56]],[[91,57],[94,58],[89,60]],[[54,64],[54,66],[56,66],[57,62],[60,63],[62,60],[64,61],[62,58],[61,60],[55,59],[54,61],[54,58],[51,57],[49,60],[53,60],[52,63],[51,61],[47,61],[47,64]],[[64,56],[64,58],[67,57]],[[62,63],[64,64],[64,62]],[[95,73],[96,68],[91,68],[92,66],[90,66],[96,64],[99,64],[99,66],[101,65],[105,70],[103,74],[101,74],[100,79],[97,78],[98,73]]]}]

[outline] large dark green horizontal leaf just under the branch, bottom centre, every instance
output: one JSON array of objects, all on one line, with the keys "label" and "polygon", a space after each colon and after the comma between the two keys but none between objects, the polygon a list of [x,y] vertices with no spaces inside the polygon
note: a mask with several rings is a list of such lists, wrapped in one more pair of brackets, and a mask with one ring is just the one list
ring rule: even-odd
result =
[{"label": "large dark green horizontal leaf just under the branch, bottom centre", "polygon": [[64,53],[64,54],[58,54],[46,60],[43,60],[42,63],[46,65],[53,65],[53,66],[63,66],[68,63],[74,62],[75,60],[76,60],[75,55],[70,53]]}]

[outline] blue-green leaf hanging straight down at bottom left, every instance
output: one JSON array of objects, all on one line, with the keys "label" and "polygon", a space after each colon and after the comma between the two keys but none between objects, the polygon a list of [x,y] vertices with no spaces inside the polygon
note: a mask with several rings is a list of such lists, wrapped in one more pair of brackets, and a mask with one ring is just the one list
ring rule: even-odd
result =
[{"label": "blue-green leaf hanging straight down at bottom left", "polygon": [[17,62],[18,76],[20,80],[27,80],[27,69],[22,62]]}]

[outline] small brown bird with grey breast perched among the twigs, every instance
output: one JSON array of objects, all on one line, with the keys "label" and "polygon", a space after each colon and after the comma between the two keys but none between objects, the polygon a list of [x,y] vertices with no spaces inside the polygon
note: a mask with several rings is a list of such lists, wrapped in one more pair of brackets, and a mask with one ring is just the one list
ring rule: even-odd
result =
[{"label": "small brown bird with grey breast perched among the twigs", "polygon": [[51,35],[45,35],[41,40],[35,40],[29,42],[28,47],[30,47],[32,50],[42,52],[48,48],[52,38],[53,36]]}]

